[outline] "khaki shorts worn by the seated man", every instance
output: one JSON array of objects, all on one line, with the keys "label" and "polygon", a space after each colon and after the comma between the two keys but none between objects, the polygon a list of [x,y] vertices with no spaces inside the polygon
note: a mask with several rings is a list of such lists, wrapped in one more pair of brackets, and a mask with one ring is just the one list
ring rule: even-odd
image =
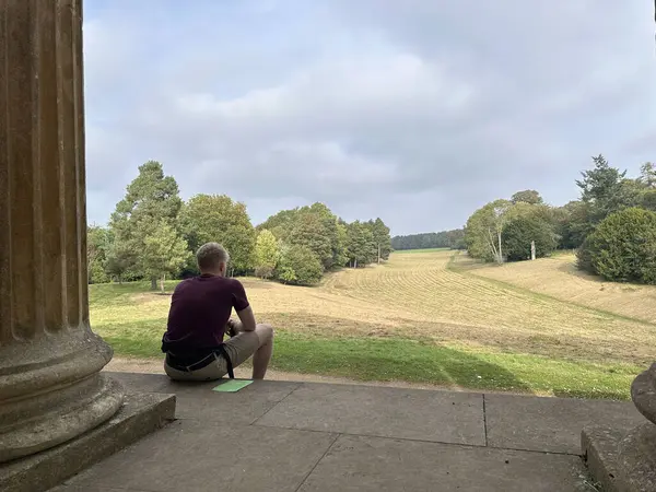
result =
[{"label": "khaki shorts worn by the seated man", "polygon": [[[259,349],[259,337],[255,331],[243,331],[235,337],[227,339],[224,343],[225,351],[230,355],[233,367],[243,364]],[[213,380],[221,379],[227,374],[225,359],[216,354],[216,360],[198,371],[186,372],[178,371],[166,364],[164,361],[164,371],[175,380]]]}]

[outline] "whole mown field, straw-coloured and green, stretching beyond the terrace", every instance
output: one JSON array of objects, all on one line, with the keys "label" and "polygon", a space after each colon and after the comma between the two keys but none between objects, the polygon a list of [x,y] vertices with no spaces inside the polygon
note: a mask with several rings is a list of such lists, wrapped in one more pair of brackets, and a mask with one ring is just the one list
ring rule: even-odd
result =
[{"label": "whole mown field, straw-coloured and green, stretching beyond the terrace", "polygon": [[[629,398],[656,353],[656,290],[609,286],[571,265],[563,256],[481,267],[421,250],[329,274],[317,288],[241,280],[258,320],[277,328],[277,370]],[[162,355],[169,296],[148,286],[90,288],[92,326],[118,355]]]}]

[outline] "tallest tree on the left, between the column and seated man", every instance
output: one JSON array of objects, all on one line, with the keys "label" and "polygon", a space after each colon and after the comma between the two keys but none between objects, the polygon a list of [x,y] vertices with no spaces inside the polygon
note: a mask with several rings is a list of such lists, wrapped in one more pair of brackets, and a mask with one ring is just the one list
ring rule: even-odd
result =
[{"label": "tallest tree on the left, between the column and seated man", "polygon": [[[145,239],[156,234],[160,224],[177,227],[183,204],[178,192],[176,180],[164,175],[162,164],[149,161],[139,166],[139,175],[128,185],[125,198],[116,204],[109,224],[119,245],[122,272],[136,270],[138,274],[148,274],[147,263],[150,260],[142,254]],[[128,259],[133,263],[127,265]],[[113,260],[112,267],[116,265]],[[151,278],[151,288],[156,289],[156,276]]]}]

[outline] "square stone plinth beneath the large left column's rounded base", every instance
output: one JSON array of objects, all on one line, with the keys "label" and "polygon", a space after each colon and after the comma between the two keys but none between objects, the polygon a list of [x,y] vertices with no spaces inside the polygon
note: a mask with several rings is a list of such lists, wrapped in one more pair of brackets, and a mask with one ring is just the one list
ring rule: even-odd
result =
[{"label": "square stone plinth beneath the large left column's rounded base", "polygon": [[65,444],[0,464],[3,492],[45,492],[68,478],[164,426],[175,415],[175,395],[125,398],[109,421]]}]

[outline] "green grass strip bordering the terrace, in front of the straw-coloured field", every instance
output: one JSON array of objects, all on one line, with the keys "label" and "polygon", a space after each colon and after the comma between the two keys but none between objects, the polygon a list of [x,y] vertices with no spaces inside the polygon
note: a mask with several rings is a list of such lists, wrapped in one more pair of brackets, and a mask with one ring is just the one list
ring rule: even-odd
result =
[{"label": "green grass strip bordering the terrace, in front of the straw-coloured field", "polygon": [[[162,321],[96,327],[117,354],[162,358]],[[639,367],[577,363],[526,354],[481,353],[432,342],[278,332],[273,368],[359,380],[405,380],[581,398],[629,398]]]}]

